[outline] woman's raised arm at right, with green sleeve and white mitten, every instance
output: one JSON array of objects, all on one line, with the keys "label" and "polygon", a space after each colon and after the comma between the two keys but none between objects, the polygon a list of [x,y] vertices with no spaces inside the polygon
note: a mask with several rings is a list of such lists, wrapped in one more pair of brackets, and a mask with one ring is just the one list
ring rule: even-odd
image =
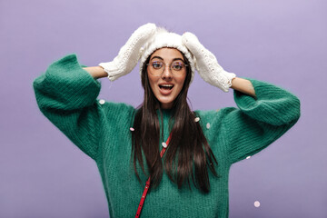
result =
[{"label": "woman's raised arm at right, with green sleeve and white mitten", "polygon": [[[300,117],[299,99],[272,84],[236,77],[218,64],[215,56],[191,33],[183,34],[183,44],[193,53],[196,69],[203,80],[224,92],[234,90],[238,108],[222,110],[221,132],[226,135],[230,163],[256,154],[272,144]],[[220,134],[220,133],[214,133]]]}]

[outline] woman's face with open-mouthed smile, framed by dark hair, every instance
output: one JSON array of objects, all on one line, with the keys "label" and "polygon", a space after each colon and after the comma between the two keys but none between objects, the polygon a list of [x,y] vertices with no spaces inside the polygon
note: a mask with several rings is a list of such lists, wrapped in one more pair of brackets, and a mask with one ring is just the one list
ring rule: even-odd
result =
[{"label": "woman's face with open-mouthed smile, framed by dark hair", "polygon": [[[175,48],[158,49],[150,57],[150,63],[147,66],[149,83],[154,92],[154,96],[161,103],[163,109],[172,108],[173,101],[181,92],[186,77],[185,67],[183,67],[182,70],[174,71],[175,73],[172,73],[169,66],[172,63],[175,63],[177,65],[174,67],[172,66],[171,68],[172,70],[173,68],[178,69],[178,64],[183,62],[183,55]],[[165,64],[164,71],[163,68],[160,71],[162,74],[158,74],[159,70],[154,70],[154,66],[158,68],[157,63],[162,63],[163,66]],[[157,72],[154,74],[154,71]]]}]

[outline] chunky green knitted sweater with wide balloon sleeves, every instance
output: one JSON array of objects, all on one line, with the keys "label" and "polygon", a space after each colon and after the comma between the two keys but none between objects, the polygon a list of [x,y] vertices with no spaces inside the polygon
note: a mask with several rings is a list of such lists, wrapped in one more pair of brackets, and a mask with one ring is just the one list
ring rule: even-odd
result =
[{"label": "chunky green knitted sweater with wide balloon sleeves", "polygon": [[[195,111],[217,159],[219,178],[210,176],[210,193],[191,185],[178,189],[167,175],[146,196],[141,217],[228,217],[228,173],[232,163],[261,151],[282,136],[300,116],[300,101],[272,84],[252,80],[256,98],[234,91],[238,108]],[[131,161],[135,108],[98,101],[101,85],[74,54],[51,64],[35,79],[43,114],[96,162],[111,217],[134,217],[144,183]],[[163,111],[163,139],[169,135],[169,111]]]}]

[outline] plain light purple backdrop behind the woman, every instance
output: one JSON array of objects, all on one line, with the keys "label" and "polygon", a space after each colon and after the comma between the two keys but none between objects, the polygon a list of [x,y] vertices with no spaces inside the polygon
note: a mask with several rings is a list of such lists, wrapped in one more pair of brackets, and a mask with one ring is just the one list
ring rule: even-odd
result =
[{"label": "plain light purple backdrop behind the woman", "polygon": [[[109,216],[94,161],[40,113],[32,83],[64,54],[86,65],[111,61],[148,22],[192,32],[227,71],[278,84],[302,101],[298,124],[232,166],[230,217],[327,217],[326,8],[324,0],[2,0],[0,217]],[[100,98],[142,103],[138,67],[102,84]],[[198,74],[189,97],[193,109],[235,105],[233,92]]]}]

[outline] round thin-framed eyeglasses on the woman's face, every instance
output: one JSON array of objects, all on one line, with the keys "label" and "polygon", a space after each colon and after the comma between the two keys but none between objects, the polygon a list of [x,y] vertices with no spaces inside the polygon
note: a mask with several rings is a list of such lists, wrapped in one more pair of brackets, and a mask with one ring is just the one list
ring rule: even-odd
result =
[{"label": "round thin-framed eyeglasses on the woman's face", "polygon": [[171,64],[164,64],[162,61],[151,61],[146,65],[150,67],[150,74],[154,76],[163,74],[166,65],[169,65],[170,72],[176,76],[182,75],[186,66],[188,66],[188,64],[184,64],[181,60],[173,61]]}]

